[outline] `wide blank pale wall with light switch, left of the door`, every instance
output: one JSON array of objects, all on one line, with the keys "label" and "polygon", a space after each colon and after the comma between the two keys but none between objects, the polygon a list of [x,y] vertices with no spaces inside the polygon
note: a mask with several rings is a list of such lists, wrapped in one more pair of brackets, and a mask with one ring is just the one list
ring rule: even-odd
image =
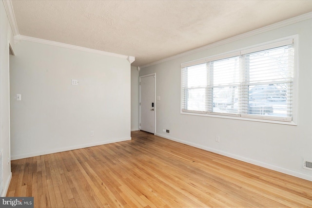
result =
[{"label": "wide blank pale wall with light switch, left of the door", "polygon": [[126,59],[22,40],[10,64],[12,159],[131,138]]}]

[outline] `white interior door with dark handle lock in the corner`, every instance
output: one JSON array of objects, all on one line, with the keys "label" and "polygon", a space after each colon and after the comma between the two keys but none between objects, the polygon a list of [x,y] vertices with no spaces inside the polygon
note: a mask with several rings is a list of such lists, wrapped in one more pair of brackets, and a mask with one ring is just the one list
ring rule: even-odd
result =
[{"label": "white interior door with dark handle lock in the corner", "polygon": [[155,78],[140,76],[140,130],[155,133]]}]

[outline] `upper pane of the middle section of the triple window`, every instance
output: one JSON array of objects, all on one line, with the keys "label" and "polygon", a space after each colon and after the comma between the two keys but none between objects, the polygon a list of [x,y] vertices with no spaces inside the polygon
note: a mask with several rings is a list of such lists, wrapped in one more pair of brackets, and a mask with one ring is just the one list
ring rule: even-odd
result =
[{"label": "upper pane of the middle section of the triple window", "polygon": [[231,57],[212,62],[214,86],[239,83],[239,57]]}]

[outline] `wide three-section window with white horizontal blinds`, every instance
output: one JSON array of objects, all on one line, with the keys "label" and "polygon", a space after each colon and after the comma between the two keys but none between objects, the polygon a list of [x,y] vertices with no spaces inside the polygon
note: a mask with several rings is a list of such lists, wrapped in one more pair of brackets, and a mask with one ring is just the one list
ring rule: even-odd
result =
[{"label": "wide three-section window with white horizontal blinds", "polygon": [[181,113],[292,121],[293,39],[181,64]]}]

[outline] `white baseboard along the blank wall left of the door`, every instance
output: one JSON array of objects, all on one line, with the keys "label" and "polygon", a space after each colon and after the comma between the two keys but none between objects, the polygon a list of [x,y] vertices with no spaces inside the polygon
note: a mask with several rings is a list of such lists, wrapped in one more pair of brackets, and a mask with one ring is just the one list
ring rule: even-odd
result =
[{"label": "white baseboard along the blank wall left of the door", "polygon": [[27,153],[27,154],[11,155],[11,160],[18,160],[18,159],[23,159],[23,158],[27,158],[27,157],[35,157],[35,156],[44,155],[44,154],[52,154],[52,153],[57,153],[57,152],[61,152],[61,151],[77,150],[77,149],[81,149],[81,148],[94,147],[94,146],[98,146],[98,145],[105,145],[105,144],[128,141],[128,140],[131,140],[131,137],[112,139],[112,140],[107,140],[107,141],[102,141],[102,142],[89,143],[89,144],[83,144],[83,145],[77,145],[77,146],[71,146],[71,147],[65,147],[65,148],[54,149],[54,150],[49,150],[49,151],[39,151],[39,152],[32,152],[32,153]]}]

